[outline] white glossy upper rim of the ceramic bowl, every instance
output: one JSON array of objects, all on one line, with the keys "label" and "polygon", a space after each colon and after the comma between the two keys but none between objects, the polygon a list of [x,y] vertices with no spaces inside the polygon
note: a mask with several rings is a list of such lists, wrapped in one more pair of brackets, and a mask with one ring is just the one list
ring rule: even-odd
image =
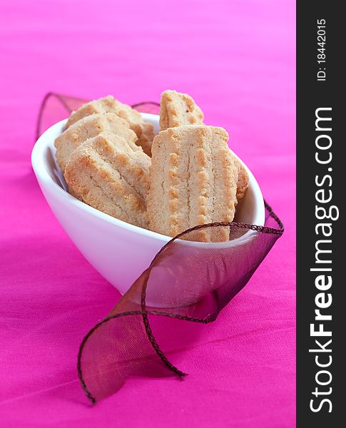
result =
[{"label": "white glossy upper rim of the ceramic bowl", "polygon": [[[158,115],[152,114],[152,113],[141,113],[141,115],[143,116],[143,119],[149,120],[149,121],[158,121],[158,117],[159,117]],[[58,183],[56,183],[56,181],[51,177],[49,170],[46,168],[46,165],[45,165],[46,162],[43,161],[44,151],[46,148],[54,148],[55,138],[54,139],[49,138],[50,134],[54,133],[55,135],[57,129],[62,130],[67,120],[68,119],[66,118],[61,121],[58,121],[57,123],[54,123],[54,125],[47,128],[46,131],[44,131],[44,133],[42,133],[41,136],[39,136],[36,143],[34,144],[34,148],[31,151],[31,165],[36,175],[36,178],[39,181],[40,186],[42,184],[44,185],[44,188],[47,188],[47,187],[51,188],[51,190],[54,191],[54,193],[56,193],[58,198],[61,197],[65,199],[68,203],[71,203],[77,209],[83,210],[89,215],[96,216],[101,220],[106,221],[107,223],[111,223],[112,225],[116,225],[120,228],[124,228],[133,233],[139,233],[141,235],[145,235],[148,238],[161,240],[164,243],[168,243],[170,240],[172,240],[173,238],[170,236],[162,235],[161,233],[153,232],[153,230],[147,230],[136,225],[131,225],[131,223],[126,223],[123,220],[119,220],[118,218],[115,218],[115,217],[112,217],[111,215],[103,213],[102,211],[97,210],[96,208],[93,208],[90,205],[87,205],[86,203],[83,203],[81,200],[74,198],[73,195],[68,193],[65,189],[63,189],[60,185],[58,185]],[[263,226],[265,222],[265,207],[264,207],[264,200],[263,200],[262,192],[260,190],[260,186],[258,185],[257,180],[255,179],[253,173],[251,173],[248,166],[245,165],[245,163],[232,151],[231,148],[230,148],[230,151],[240,161],[240,163],[244,166],[245,170],[247,171],[249,175],[249,183],[251,183],[251,186],[253,187],[253,191],[255,194],[255,201],[258,202],[260,198],[260,203],[261,203],[260,205],[261,205],[261,208],[263,205],[263,210],[262,210],[262,213],[258,215],[258,217],[262,219],[262,221],[258,222],[258,225]],[[55,157],[54,157],[54,163],[56,164],[56,168],[59,168],[56,163]],[[248,233],[246,233],[245,235],[248,235]],[[245,238],[245,235],[243,235],[240,238],[237,238],[236,240],[228,241],[228,245],[229,243],[234,244],[235,241],[243,240],[243,238]],[[188,243],[188,241],[184,241],[184,243]],[[193,244],[204,244],[204,243],[193,242]],[[213,243],[213,244],[225,245],[227,243]]]}]

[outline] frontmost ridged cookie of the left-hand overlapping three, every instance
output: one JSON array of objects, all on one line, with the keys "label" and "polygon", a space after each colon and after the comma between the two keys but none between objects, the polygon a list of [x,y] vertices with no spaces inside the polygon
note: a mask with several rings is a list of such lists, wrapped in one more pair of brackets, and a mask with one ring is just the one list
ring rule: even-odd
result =
[{"label": "frontmost ridged cookie of the left-hand overlapping three", "polygon": [[150,158],[120,136],[103,132],[71,154],[65,168],[68,191],[103,213],[148,228],[146,193]]}]

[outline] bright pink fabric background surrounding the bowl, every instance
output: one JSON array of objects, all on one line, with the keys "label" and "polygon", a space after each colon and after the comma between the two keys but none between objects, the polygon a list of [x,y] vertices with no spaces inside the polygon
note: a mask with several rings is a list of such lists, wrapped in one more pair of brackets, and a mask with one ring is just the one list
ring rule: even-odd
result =
[{"label": "bright pink fabric background surrounding the bowl", "polygon": [[[295,426],[293,0],[0,3],[0,426]],[[30,165],[41,98],[193,95],[224,126],[285,224],[245,289],[175,362],[92,408],[76,378],[86,332],[118,292],[83,259]]]}]

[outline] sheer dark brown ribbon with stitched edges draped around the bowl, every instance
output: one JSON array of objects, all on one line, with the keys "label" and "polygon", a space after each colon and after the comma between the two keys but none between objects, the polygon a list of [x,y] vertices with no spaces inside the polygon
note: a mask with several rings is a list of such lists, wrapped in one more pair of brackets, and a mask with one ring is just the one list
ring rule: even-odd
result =
[{"label": "sheer dark brown ribbon with stitched edges draped around the bowl", "polygon": [[[47,94],[39,113],[37,136],[84,102],[80,98]],[[140,103],[133,107],[158,113],[158,106]],[[214,321],[250,280],[283,235],[283,223],[267,203],[265,213],[264,226],[200,225],[185,230],[161,248],[148,269],[81,343],[78,377],[91,402],[113,394],[129,377],[185,376],[168,360],[169,351],[164,353],[161,347],[178,347],[184,340],[192,342],[193,333],[188,325],[179,325],[181,321],[177,320],[199,324]],[[226,243],[190,241],[200,229],[216,237],[220,228],[229,230]]]}]

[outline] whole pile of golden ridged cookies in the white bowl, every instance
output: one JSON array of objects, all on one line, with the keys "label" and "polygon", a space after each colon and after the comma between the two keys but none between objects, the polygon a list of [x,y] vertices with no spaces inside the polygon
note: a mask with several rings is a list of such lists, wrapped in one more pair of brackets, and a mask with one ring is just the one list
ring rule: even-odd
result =
[{"label": "whole pile of golden ridged cookies in the white bowl", "polygon": [[[184,93],[161,95],[161,131],[112,96],[71,114],[55,141],[56,159],[76,198],[141,228],[175,236],[195,225],[232,222],[248,174],[230,152],[228,133],[205,126]],[[228,240],[228,228],[189,239]]]}]

